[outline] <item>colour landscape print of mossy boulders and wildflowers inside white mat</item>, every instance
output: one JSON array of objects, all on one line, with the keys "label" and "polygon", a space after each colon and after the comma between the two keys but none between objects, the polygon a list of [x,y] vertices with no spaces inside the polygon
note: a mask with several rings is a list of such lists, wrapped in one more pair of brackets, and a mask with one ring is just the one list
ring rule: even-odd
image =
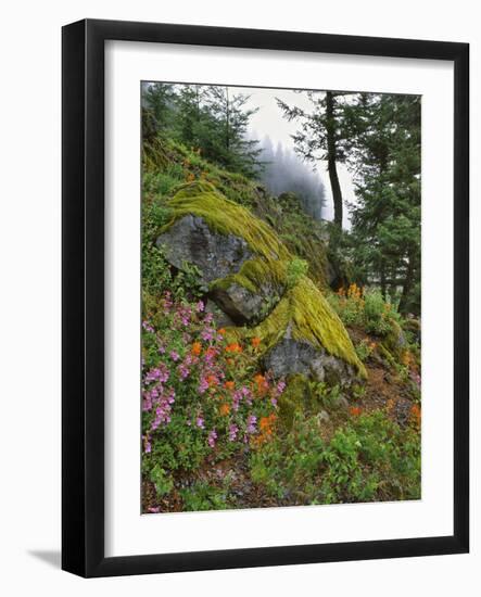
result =
[{"label": "colour landscape print of mossy boulders and wildflowers inside white mat", "polygon": [[142,513],[420,499],[420,109],[142,81]]}]

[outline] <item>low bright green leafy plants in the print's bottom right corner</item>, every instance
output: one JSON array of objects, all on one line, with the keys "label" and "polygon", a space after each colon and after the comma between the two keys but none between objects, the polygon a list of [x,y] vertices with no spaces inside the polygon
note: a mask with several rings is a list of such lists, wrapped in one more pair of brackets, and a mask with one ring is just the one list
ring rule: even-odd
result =
[{"label": "low bright green leafy plants in the print's bottom right corner", "polygon": [[420,441],[381,411],[362,415],[331,440],[298,415],[292,431],[251,455],[252,479],[296,504],[420,498]]}]

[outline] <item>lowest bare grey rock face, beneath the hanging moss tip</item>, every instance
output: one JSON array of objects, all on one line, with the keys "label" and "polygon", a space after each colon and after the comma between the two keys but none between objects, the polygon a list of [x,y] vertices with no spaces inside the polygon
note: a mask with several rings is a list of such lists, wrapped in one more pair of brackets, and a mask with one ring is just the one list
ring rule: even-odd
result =
[{"label": "lowest bare grey rock face, beneath the hanging moss tip", "polygon": [[355,371],[344,360],[315,348],[308,342],[287,336],[265,355],[264,365],[276,377],[302,373],[317,381],[341,385],[349,385],[355,378]]}]

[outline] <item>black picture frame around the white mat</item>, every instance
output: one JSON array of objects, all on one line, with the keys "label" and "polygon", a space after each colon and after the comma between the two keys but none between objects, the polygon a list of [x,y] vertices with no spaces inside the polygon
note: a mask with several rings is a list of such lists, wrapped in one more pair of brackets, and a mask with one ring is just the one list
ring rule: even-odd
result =
[{"label": "black picture frame around the white mat", "polygon": [[[63,27],[62,568],[81,576],[463,554],[469,549],[469,46],[85,20]],[[433,59],[454,63],[452,536],[104,556],[104,42]]]}]

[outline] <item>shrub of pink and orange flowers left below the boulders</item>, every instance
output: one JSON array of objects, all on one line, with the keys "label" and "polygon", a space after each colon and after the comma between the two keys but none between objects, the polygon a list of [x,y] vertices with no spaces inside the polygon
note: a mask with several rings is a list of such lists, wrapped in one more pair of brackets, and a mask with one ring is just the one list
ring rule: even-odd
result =
[{"label": "shrub of pink and orange flowers left below the boulders", "polygon": [[[159,306],[159,305],[157,305]],[[176,470],[249,450],[273,435],[286,383],[257,369],[258,339],[228,342],[203,301],[169,292],[142,322],[143,471],[159,495]]]}]

